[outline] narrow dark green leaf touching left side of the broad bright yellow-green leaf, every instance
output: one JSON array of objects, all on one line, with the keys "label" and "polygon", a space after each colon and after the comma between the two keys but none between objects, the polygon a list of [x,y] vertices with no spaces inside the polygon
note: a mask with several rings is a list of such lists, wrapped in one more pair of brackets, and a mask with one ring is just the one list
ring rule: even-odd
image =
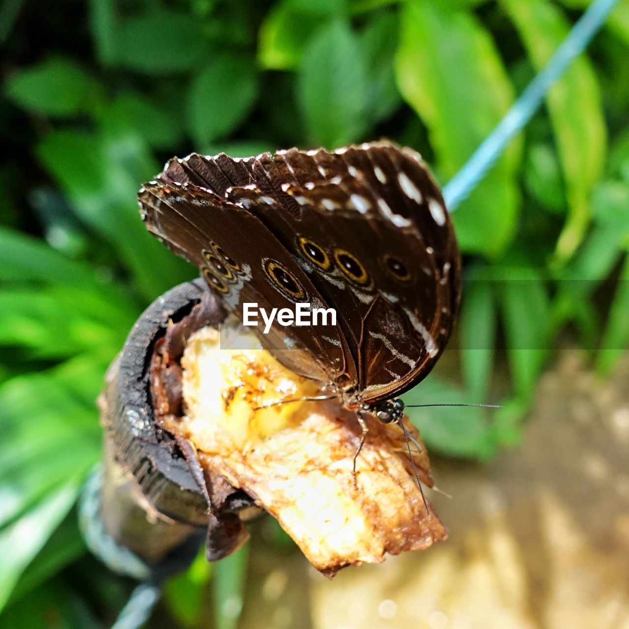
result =
[{"label": "narrow dark green leaf touching left side of the broad bright yellow-green leaf", "polygon": [[394,71],[398,33],[398,16],[393,13],[376,14],[360,33],[367,67],[367,107],[372,124],[390,116],[402,102]]}]

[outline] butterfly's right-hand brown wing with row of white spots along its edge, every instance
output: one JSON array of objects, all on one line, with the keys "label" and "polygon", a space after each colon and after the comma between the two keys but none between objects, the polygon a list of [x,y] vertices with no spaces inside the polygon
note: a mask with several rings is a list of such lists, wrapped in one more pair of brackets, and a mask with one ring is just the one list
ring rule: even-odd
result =
[{"label": "butterfly's right-hand brown wing with row of white spots along its edge", "polygon": [[[291,149],[245,167],[287,209],[255,204],[255,212],[341,315],[360,399],[413,387],[445,348],[460,297],[454,230],[419,156],[377,143]],[[248,195],[237,187],[227,196]],[[320,259],[308,256],[304,239]]]}]

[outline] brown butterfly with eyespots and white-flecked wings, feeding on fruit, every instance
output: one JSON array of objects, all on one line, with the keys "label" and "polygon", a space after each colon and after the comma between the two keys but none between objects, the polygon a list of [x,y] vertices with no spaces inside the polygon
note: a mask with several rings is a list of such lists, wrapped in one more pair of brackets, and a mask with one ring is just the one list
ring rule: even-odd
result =
[{"label": "brown butterfly with eyespots and white-flecked wings, feeding on fruit", "polygon": [[443,352],[461,281],[454,227],[418,153],[387,141],[248,158],[193,153],[170,160],[138,201],[148,230],[199,267],[226,311],[242,319],[250,302],[336,310],[334,326],[274,324],[259,337],[318,380],[322,398],[356,412],[355,456],[364,413],[408,435],[398,396]]}]

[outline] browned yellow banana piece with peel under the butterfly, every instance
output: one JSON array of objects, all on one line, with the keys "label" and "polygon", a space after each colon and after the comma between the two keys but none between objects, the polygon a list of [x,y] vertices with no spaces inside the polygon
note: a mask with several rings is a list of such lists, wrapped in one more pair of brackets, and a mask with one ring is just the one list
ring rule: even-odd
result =
[{"label": "browned yellow banana piece with peel under the butterfly", "polygon": [[[317,395],[317,383],[287,370],[252,335],[223,349],[216,329],[200,329],[181,367],[183,415],[165,415],[162,426],[193,445],[206,475],[220,475],[274,516],[323,574],[447,536],[423,500],[399,426],[365,416],[354,482],[355,414],[335,399],[287,401]],[[412,451],[431,487],[425,448]]]}]

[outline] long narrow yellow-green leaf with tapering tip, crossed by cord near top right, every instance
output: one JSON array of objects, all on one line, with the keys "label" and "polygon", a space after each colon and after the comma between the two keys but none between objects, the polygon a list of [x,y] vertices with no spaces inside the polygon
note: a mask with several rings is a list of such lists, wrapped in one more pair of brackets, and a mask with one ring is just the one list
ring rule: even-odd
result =
[{"label": "long narrow yellow-green leaf with tapering tip, crossed by cord near top right", "polygon": [[[533,65],[547,64],[570,25],[547,0],[501,0],[520,33]],[[591,64],[572,62],[547,95],[548,113],[562,164],[569,215],[557,241],[557,262],[569,259],[584,238],[591,218],[589,196],[603,172],[606,127],[600,90]]]}]

